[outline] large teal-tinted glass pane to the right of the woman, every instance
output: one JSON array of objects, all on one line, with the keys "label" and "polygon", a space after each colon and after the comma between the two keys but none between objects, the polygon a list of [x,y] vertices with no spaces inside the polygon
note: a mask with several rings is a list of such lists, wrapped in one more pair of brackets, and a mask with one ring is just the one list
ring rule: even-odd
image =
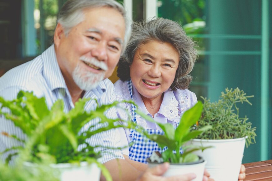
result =
[{"label": "large teal-tinted glass pane to the right of the woman", "polygon": [[[198,99],[204,96],[212,101],[226,87],[254,95],[253,105],[241,105],[239,113],[247,115],[260,135],[262,1],[158,0],[158,5],[159,17],[180,22],[199,46],[190,90]],[[245,149],[243,163],[260,160],[259,136],[256,142]]]}]

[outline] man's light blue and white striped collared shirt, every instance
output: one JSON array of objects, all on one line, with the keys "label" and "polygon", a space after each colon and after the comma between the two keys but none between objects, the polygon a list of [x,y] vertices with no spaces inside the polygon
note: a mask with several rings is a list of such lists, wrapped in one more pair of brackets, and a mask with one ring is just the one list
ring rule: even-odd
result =
[{"label": "man's light blue and white striped collared shirt", "polygon": [[[64,101],[65,112],[74,107],[71,95],[58,66],[54,45],[50,46],[34,60],[11,69],[0,78],[0,96],[3,98],[13,100],[20,90],[33,91],[38,97],[44,96],[49,108],[58,99]],[[115,100],[113,84],[106,79],[97,88],[86,91],[83,97],[97,99],[99,105],[112,103]],[[96,107],[95,100],[90,100],[86,103],[85,110],[94,110]],[[116,109],[109,109],[106,115],[109,118],[116,118]],[[89,125],[94,125],[97,122],[98,119],[91,120],[81,131],[88,129]],[[18,127],[15,127],[13,122],[5,120],[3,117],[0,117],[1,132],[7,132],[8,134],[16,135],[18,138],[26,139],[26,135]],[[88,139],[88,143],[92,146],[119,147],[120,134],[116,130],[109,130],[92,136]],[[18,145],[22,145],[22,143],[0,134],[0,152]],[[81,149],[82,146],[79,145],[78,149]],[[98,148],[98,150],[101,150],[101,148]],[[0,160],[4,161],[8,154],[13,152],[14,150],[3,154],[0,156]],[[123,155],[119,150],[111,149],[105,152],[102,155],[102,163],[115,158],[123,159]]]}]

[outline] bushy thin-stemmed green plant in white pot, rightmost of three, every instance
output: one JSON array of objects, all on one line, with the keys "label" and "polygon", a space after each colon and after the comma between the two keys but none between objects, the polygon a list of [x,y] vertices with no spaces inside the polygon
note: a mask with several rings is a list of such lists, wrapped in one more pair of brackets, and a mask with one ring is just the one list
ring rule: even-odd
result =
[{"label": "bushy thin-stemmed green plant in white pot, rightmost of three", "polygon": [[[244,154],[244,146],[255,143],[255,130],[248,118],[239,117],[238,103],[251,103],[243,90],[225,89],[217,102],[203,98],[203,111],[191,130],[198,130],[207,125],[212,129],[202,132],[190,144],[212,146],[203,152],[196,151],[207,160],[206,169],[215,180],[237,180]],[[228,156],[229,155],[229,156]]]}]

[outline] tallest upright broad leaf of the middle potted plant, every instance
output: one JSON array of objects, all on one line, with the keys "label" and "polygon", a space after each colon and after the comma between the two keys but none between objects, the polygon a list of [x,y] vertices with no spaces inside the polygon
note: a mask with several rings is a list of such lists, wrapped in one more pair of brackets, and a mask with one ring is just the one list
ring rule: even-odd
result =
[{"label": "tallest upright broad leaf of the middle potted plant", "polygon": [[201,116],[203,105],[198,101],[192,108],[185,111],[181,117],[179,126],[176,128],[175,139],[181,142],[184,135],[186,135],[192,125],[194,125]]}]

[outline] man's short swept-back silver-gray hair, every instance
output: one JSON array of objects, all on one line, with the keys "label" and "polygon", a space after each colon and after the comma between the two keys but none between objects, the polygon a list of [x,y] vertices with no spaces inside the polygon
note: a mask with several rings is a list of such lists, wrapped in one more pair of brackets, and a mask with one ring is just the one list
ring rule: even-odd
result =
[{"label": "man's short swept-back silver-gray hair", "polygon": [[131,33],[130,20],[124,7],[114,0],[68,0],[61,8],[57,22],[64,28],[64,33],[67,36],[71,28],[84,21],[83,10],[95,7],[110,7],[120,12],[125,21],[125,37],[122,47],[122,53],[128,43]]}]

